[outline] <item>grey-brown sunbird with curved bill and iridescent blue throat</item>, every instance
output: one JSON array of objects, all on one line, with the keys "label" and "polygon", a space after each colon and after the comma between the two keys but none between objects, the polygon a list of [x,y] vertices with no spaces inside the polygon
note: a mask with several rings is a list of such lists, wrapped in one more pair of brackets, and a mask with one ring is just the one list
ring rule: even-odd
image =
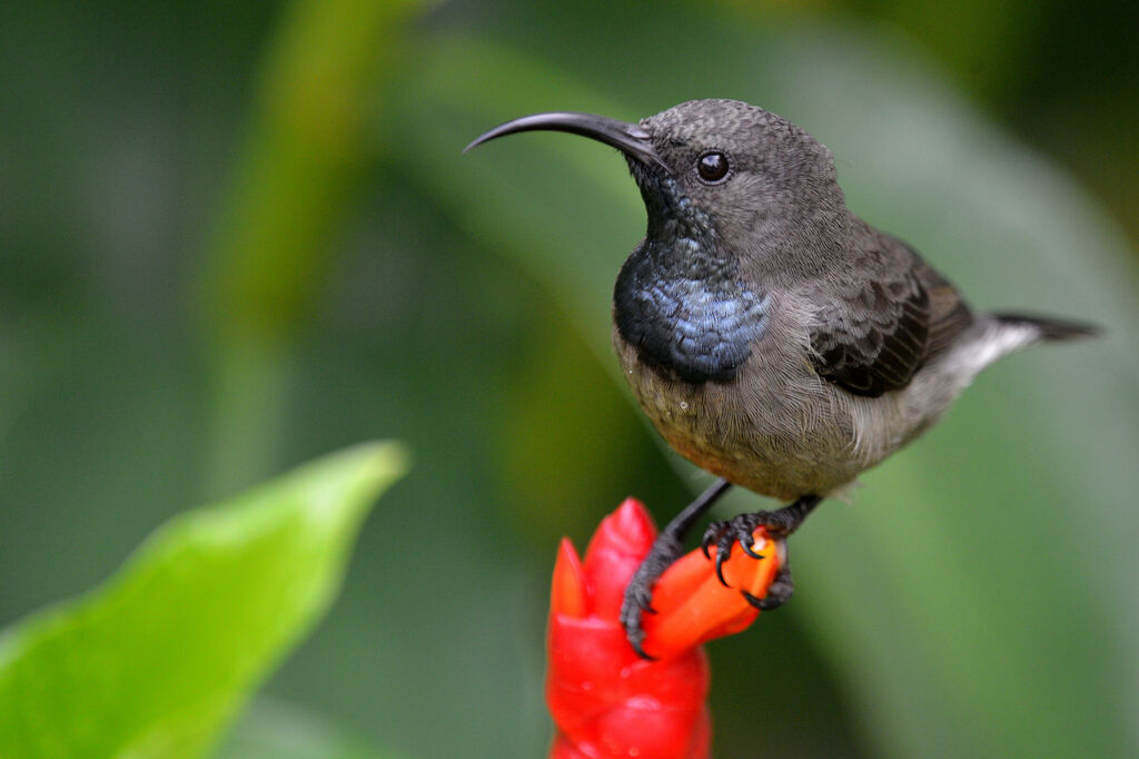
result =
[{"label": "grey-brown sunbird with curved bill and iridescent blue throat", "polygon": [[693,100],[639,124],[544,113],[468,149],[531,130],[624,154],[648,230],[617,276],[613,344],[665,440],[720,478],[661,532],[625,591],[639,652],[653,582],[731,484],[789,501],[714,522],[703,540],[719,571],[737,541],[756,555],[752,532],[764,525],[782,569],[749,601],[773,609],[793,590],[786,538],[822,498],[929,429],[985,366],[1095,333],[970,310],[912,247],[846,207],[830,150],[762,108]]}]

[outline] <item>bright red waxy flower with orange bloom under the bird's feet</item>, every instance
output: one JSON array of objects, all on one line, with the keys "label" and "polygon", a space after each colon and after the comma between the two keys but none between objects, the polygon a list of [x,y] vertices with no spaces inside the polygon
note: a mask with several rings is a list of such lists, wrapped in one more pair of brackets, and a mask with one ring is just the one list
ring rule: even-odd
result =
[{"label": "bright red waxy flower with orange bloom under the bird's feet", "polygon": [[740,590],[763,597],[778,569],[773,545],[755,532],[754,560],[741,550],[724,562],[731,588],[712,561],[694,550],[669,568],[645,614],[637,655],[617,620],[625,585],[648,554],[656,528],[630,498],[593,533],[585,561],[562,540],[550,594],[546,700],[557,727],[551,759],[706,759],[711,717],[705,640],[739,632],[759,615]]}]

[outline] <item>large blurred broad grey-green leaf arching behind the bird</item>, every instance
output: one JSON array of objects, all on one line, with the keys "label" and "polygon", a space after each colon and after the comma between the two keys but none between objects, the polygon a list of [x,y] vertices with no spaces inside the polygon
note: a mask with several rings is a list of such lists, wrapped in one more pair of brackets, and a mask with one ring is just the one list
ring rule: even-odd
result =
[{"label": "large blurred broad grey-green leaf arching behind the bird", "polygon": [[[788,613],[809,619],[883,753],[1126,756],[1139,696],[1128,644],[1139,639],[1139,605],[1126,581],[1139,566],[1124,537],[1139,529],[1125,507],[1137,484],[1139,367],[1121,341],[1139,332],[1139,312],[1121,237],[1065,178],[880,38],[693,26],[671,11],[654,10],[664,32],[646,35],[650,43],[611,41],[637,62],[624,101],[612,71],[598,71],[613,60],[565,65],[571,43],[551,42],[562,38],[543,26],[557,18],[502,22],[491,39],[433,39],[403,85],[416,97],[388,122],[392,145],[419,158],[408,180],[487,248],[536,271],[607,352],[611,283],[644,228],[620,158],[550,134],[457,150],[535,111],[636,119],[652,113],[636,105],[650,98],[661,109],[740,97],[828,144],[852,207],[915,242],[980,308],[1112,325],[1106,341],[992,369],[942,429],[867,478],[858,509],[830,504],[813,517],[796,537],[800,589]],[[615,13],[608,28],[622,35],[640,21]],[[689,59],[667,36],[680,31],[704,52],[713,91],[689,87]],[[605,33],[590,38],[598,49]],[[478,85],[486,82],[495,85]],[[729,506],[757,504],[737,492]],[[1057,568],[1065,539],[1079,558]],[[1066,613],[1073,605],[1077,613]]]}]

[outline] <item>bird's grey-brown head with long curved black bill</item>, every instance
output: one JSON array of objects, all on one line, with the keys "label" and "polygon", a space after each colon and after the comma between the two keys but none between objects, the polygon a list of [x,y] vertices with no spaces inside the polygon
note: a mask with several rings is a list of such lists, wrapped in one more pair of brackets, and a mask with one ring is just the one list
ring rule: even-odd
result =
[{"label": "bird's grey-brown head with long curved black bill", "polygon": [[637,124],[535,114],[492,129],[467,149],[533,130],[621,150],[645,199],[649,239],[681,237],[705,253],[754,258],[765,242],[819,239],[845,212],[830,150],[786,119],[738,100],[690,100]]}]

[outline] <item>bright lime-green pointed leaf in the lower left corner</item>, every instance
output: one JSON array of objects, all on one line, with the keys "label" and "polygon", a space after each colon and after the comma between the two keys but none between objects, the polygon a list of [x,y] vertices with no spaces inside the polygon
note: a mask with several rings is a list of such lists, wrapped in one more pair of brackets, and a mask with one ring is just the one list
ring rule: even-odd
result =
[{"label": "bright lime-green pointed leaf in the lower left corner", "polygon": [[182,514],[104,586],[6,630],[0,756],[199,756],[328,609],[405,460],[363,444]]}]

